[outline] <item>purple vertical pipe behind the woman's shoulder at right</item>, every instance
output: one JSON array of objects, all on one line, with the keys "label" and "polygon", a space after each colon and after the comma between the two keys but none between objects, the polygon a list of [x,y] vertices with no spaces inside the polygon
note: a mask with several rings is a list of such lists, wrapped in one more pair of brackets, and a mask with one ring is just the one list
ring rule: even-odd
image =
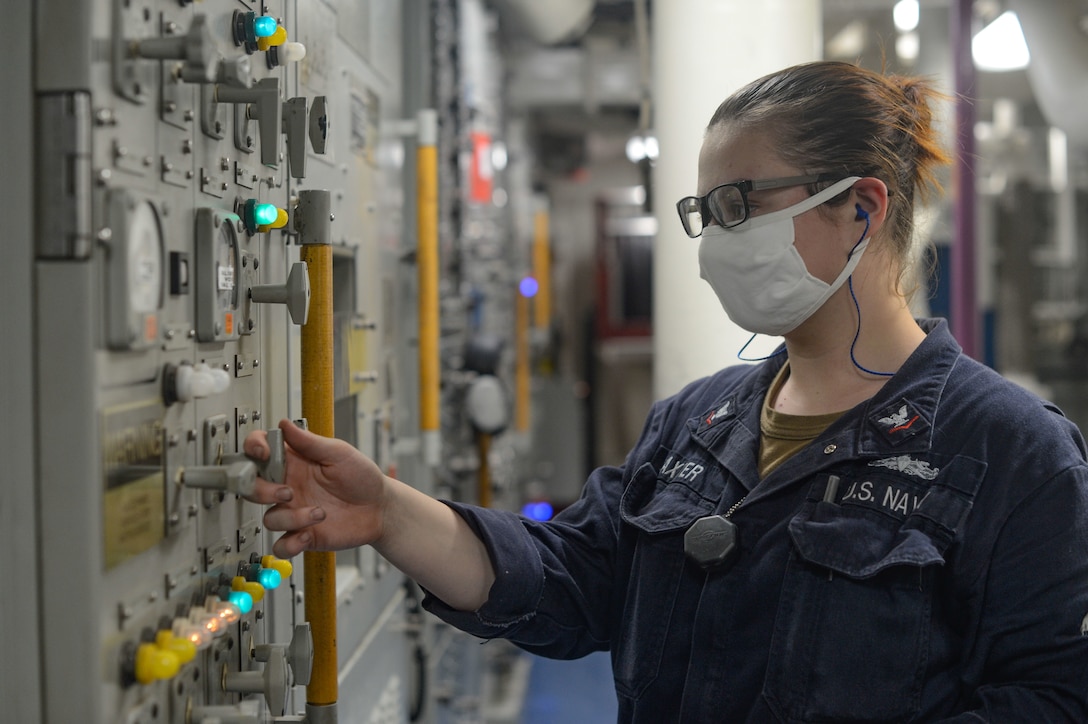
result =
[{"label": "purple vertical pipe behind the woman's shoulder at right", "polygon": [[953,174],[955,237],[952,242],[952,334],[964,354],[978,358],[978,299],[975,292],[975,86],[970,52],[973,0],[951,5],[955,76],[956,158]]}]

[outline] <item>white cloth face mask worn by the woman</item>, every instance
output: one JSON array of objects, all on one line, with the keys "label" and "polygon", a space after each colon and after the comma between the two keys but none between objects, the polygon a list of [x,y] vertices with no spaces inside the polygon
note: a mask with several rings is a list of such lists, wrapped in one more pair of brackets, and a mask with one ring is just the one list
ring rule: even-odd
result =
[{"label": "white cloth face mask worn by the woman", "polygon": [[808,319],[853,273],[869,240],[860,242],[828,284],[808,273],[793,245],[793,218],[850,188],[851,176],[800,204],[752,217],[732,229],[707,226],[698,266],[733,322],[757,334],[786,334]]}]

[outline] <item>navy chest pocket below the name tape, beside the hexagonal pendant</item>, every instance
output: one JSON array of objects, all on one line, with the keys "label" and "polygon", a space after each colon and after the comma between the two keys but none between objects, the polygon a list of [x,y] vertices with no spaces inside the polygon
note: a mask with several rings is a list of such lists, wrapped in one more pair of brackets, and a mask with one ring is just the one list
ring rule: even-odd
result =
[{"label": "navy chest pocket below the name tape, beside the hexagonal pendant", "polygon": [[629,541],[631,562],[613,637],[613,673],[617,691],[631,699],[654,683],[666,655],[684,568],[684,531],[716,506],[688,481],[663,477],[647,463],[620,501],[621,538]]}]

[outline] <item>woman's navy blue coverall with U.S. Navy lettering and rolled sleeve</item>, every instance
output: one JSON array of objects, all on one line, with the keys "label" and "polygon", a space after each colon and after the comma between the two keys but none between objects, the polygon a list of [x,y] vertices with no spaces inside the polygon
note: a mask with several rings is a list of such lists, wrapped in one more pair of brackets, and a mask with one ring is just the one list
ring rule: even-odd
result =
[{"label": "woman's navy blue coverall with U.S. Navy lettering and rolled sleeve", "polygon": [[[610,650],[620,722],[1088,722],[1084,439],[920,323],[871,400],[763,480],[784,355],[655,404],[552,521],[449,503],[497,578],[477,612],[426,608],[546,656]],[[742,499],[735,563],[689,561],[684,531]]]}]

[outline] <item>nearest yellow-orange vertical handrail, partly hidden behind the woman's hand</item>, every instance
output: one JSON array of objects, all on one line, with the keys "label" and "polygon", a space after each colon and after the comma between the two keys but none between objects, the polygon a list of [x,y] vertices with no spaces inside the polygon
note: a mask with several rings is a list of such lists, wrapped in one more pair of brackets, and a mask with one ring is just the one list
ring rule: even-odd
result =
[{"label": "nearest yellow-orange vertical handrail, partly hidden behind the woman's hand", "polygon": [[[333,391],[333,247],[327,191],[298,194],[295,226],[300,257],[310,274],[310,314],[302,326],[302,416],[310,431],[335,434]],[[306,687],[307,712],[321,711],[322,722],[335,721],[337,699],[336,554],[307,551],[304,556],[306,619],[313,635],[313,670]],[[307,717],[310,721],[310,717]]]}]

